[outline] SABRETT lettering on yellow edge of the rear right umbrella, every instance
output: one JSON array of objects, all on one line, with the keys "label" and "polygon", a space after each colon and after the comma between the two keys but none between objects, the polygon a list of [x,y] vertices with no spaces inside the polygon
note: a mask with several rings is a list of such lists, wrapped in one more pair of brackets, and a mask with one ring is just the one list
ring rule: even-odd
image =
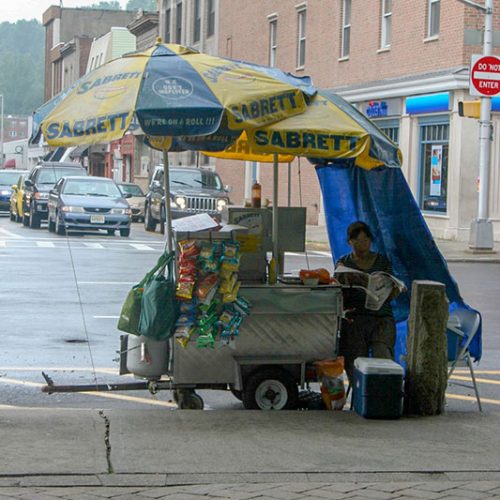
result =
[{"label": "SABRETT lettering on yellow edge of the rear right umbrella", "polygon": [[356,148],[359,137],[336,134],[313,134],[311,132],[281,132],[278,130],[255,132],[255,143],[258,146],[275,146],[286,149],[320,149],[325,151],[341,151],[342,143],[347,142],[348,149]]}]

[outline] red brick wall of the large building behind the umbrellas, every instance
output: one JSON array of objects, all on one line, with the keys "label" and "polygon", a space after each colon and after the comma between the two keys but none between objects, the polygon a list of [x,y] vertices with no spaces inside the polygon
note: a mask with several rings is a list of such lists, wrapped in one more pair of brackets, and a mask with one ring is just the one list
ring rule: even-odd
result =
[{"label": "red brick wall of the large building behind the umbrellas", "polygon": [[[277,14],[277,63],[279,68],[299,75],[310,75],[319,87],[338,87],[400,76],[468,66],[471,53],[481,46],[465,46],[464,29],[482,31],[484,15],[458,0],[441,0],[439,37],[427,36],[427,0],[393,0],[391,47],[380,49],[381,0],[353,0],[351,51],[348,60],[339,61],[341,49],[341,0],[307,0],[306,62],[296,69],[297,10],[300,0],[220,0],[219,53],[235,59],[268,64],[269,21]],[[495,29],[500,30],[500,0],[495,0]],[[500,51],[499,51],[500,53]],[[233,162],[234,163],[234,162]],[[319,185],[314,169],[302,160],[303,202],[308,221],[317,220]],[[244,167],[228,167],[217,162],[224,182],[233,186],[231,198],[242,203]],[[282,179],[286,169],[282,168]],[[261,167],[263,196],[271,198],[272,167]],[[294,168],[293,201],[298,203]],[[286,182],[280,190],[280,203],[286,201]]]}]

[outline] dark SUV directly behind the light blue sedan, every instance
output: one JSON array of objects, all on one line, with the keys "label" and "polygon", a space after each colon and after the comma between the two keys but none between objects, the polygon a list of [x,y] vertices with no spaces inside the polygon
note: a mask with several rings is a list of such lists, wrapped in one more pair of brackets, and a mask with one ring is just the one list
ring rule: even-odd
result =
[{"label": "dark SUV directly behind the light blue sedan", "polygon": [[38,229],[42,220],[47,219],[49,191],[64,176],[87,175],[78,163],[43,162],[37,165],[24,180],[23,224]]}]

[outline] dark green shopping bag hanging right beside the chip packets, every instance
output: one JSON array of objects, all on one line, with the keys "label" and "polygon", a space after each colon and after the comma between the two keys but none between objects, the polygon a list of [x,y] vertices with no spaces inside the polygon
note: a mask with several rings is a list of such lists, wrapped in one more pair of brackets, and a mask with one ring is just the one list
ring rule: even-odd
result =
[{"label": "dark green shopping bag hanging right beside the chip packets", "polygon": [[177,321],[173,259],[173,253],[166,255],[163,265],[144,283],[139,332],[155,340],[169,338]]}]

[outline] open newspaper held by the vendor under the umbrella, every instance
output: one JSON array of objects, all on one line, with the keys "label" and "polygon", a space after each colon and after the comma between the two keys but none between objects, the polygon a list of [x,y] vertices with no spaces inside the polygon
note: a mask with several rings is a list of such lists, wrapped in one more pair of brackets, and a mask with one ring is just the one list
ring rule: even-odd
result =
[{"label": "open newspaper held by the vendor under the umbrella", "polygon": [[406,291],[405,284],[392,274],[377,271],[371,274],[340,264],[335,269],[335,277],[343,285],[361,288],[366,292],[365,308],[378,311],[392,294],[394,288],[399,293]]}]

